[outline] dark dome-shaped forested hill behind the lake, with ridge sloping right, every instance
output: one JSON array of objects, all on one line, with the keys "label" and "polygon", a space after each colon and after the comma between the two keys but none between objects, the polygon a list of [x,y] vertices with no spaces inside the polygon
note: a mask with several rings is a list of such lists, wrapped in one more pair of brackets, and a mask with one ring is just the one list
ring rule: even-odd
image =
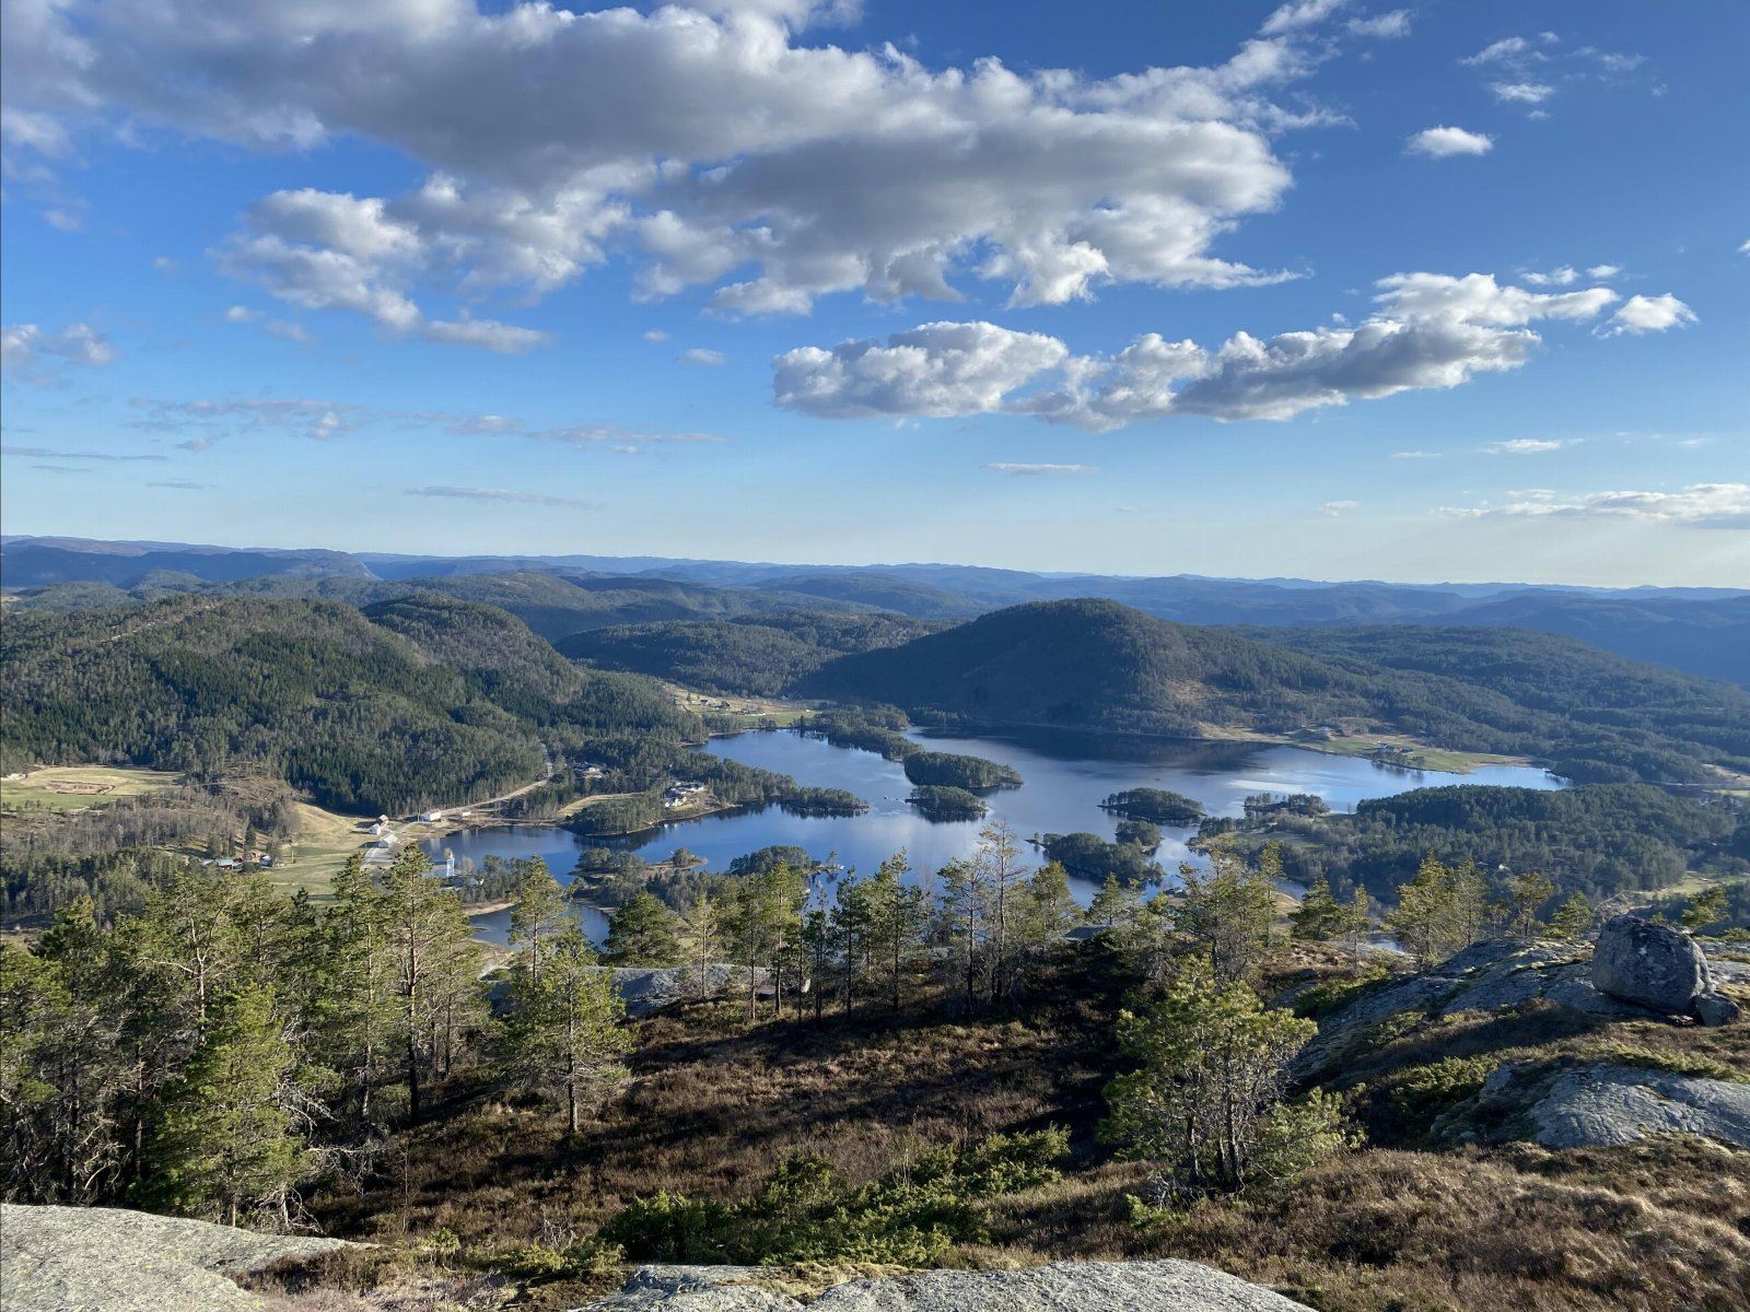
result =
[{"label": "dark dome-shaped forested hill behind the lake, with ridge sloping right", "polygon": [[[1405,630],[1379,630],[1381,647]],[[1440,633],[1451,630],[1423,630]],[[1314,633],[1312,639],[1325,637]],[[1342,630],[1330,632],[1340,640]],[[1048,724],[1108,733],[1197,735],[1209,729],[1295,733],[1362,721],[1421,742],[1545,759],[1577,780],[1701,782],[1708,761],[1750,768],[1750,696],[1547,635],[1549,668],[1521,703],[1519,684],[1465,659],[1395,668],[1351,653],[1297,651],[1241,633],[1188,628],[1104,600],[1010,607],[891,651],[845,656],[800,684],[814,696],[886,701],[968,724]],[[1514,637],[1480,633],[1510,649]],[[1542,647],[1556,644],[1556,647]],[[1535,663],[1538,656],[1526,659]],[[1376,654],[1377,656],[1377,654]],[[1589,663],[1626,666],[1610,682]],[[1594,677],[1596,675],[1596,677]],[[1652,710],[1640,710],[1640,707]],[[1680,733],[1661,728],[1689,705]],[[1706,736],[1682,736],[1698,729]]]}]

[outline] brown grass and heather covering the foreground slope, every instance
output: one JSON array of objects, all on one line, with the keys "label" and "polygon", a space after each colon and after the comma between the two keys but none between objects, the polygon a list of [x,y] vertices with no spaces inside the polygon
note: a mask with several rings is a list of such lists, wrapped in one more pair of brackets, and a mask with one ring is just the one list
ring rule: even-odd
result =
[{"label": "brown grass and heather covering the foreground slope", "polygon": [[[1284,962],[1278,981],[1328,962]],[[845,1176],[884,1170],[910,1135],[1071,1130],[1059,1184],[996,1209],[968,1265],[1178,1256],[1281,1288],[1321,1312],[1741,1309],[1750,1305],[1750,1153],[1690,1141],[1547,1153],[1524,1144],[1430,1153],[1372,1146],[1326,1162],[1279,1198],[1206,1204],[1153,1230],[1125,1195],[1146,1172],[1111,1162],[1096,1125],[1118,983],[1097,953],[1066,964],[1018,1018],[887,1016],[740,1030],[737,1008],[639,1025],[635,1083],[565,1144],[550,1109],[476,1102],[406,1141],[362,1197],[315,1198],[331,1233],[397,1246],[438,1235],[464,1267],[527,1242],[565,1247],[630,1197],[746,1197],[784,1156]],[[1584,1022],[1584,1023],[1582,1023]],[[1351,1078],[1468,1053],[1601,1053],[1750,1069],[1750,1025],[1601,1023],[1552,1008],[1433,1023]],[[597,1282],[555,1282],[528,1307],[576,1307]]]}]

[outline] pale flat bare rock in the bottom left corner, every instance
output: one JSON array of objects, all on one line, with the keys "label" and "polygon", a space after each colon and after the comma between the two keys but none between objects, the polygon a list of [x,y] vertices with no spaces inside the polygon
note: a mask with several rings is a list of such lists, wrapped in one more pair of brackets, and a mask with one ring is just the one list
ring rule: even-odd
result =
[{"label": "pale flat bare rock in the bottom left corner", "polygon": [[250,1312],[261,1300],[229,1277],[336,1247],[346,1246],[119,1207],[5,1204],[0,1305],[5,1312]]}]

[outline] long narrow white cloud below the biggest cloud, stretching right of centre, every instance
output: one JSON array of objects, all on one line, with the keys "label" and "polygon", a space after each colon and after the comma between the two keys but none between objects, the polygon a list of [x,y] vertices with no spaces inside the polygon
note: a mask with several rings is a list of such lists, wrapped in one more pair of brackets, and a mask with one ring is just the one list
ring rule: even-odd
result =
[{"label": "long narrow white cloud below the biggest cloud, stretching right of centre", "polygon": [[1288,420],[1517,369],[1542,345],[1533,324],[1591,320],[1615,301],[1606,287],[1533,292],[1486,273],[1400,273],[1376,283],[1362,324],[1236,332],[1214,350],[1150,332],[1110,357],[1074,355],[1040,332],[938,322],[786,352],[774,395],[822,418],[1015,413],[1090,432],[1169,415]]}]

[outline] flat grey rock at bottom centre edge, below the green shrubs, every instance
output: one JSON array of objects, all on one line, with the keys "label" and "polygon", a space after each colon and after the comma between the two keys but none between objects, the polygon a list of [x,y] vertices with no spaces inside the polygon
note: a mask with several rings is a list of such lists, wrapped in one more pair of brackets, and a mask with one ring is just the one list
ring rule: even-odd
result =
[{"label": "flat grey rock at bottom centre edge, below the green shrubs", "polygon": [[[644,1267],[588,1312],[800,1312],[749,1267]],[[1059,1261],[1017,1272],[915,1272],[850,1281],[808,1312],[1307,1312],[1194,1261]]]}]

